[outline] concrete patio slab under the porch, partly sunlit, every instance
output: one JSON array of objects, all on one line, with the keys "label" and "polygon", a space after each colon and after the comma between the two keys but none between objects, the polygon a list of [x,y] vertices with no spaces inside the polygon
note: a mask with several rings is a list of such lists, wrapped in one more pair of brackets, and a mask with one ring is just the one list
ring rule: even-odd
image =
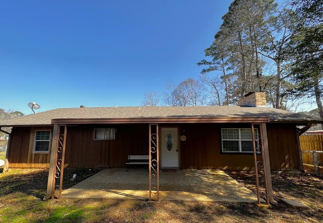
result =
[{"label": "concrete patio slab under the porch, partly sunlit", "polygon": [[[140,199],[149,198],[146,169],[105,169],[64,190],[63,197]],[[257,196],[221,170],[177,170],[159,173],[160,200],[256,202]]]}]

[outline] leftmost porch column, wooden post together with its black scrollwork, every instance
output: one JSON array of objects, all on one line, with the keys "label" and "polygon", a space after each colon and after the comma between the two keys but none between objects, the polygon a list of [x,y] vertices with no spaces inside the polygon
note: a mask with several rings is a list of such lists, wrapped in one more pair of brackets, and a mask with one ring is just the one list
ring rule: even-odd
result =
[{"label": "leftmost porch column, wooden post together with its black scrollwork", "polygon": [[[61,199],[63,188],[64,160],[66,148],[66,125],[55,124],[51,139],[50,162],[47,181],[47,192],[43,200]],[[59,194],[55,193],[56,180],[59,179]]]}]

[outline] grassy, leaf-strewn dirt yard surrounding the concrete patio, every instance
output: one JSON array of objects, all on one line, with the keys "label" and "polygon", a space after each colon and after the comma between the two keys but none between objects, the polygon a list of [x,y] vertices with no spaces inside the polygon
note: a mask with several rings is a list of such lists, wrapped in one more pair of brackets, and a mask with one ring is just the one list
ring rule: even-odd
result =
[{"label": "grassy, leaf-strewn dirt yard surrounding the concrete patio", "polygon": [[[2,169],[0,169],[2,171]],[[100,170],[64,171],[64,188]],[[226,171],[255,192],[254,173]],[[73,174],[75,182],[69,179]],[[42,201],[48,170],[10,169],[0,174],[0,219],[3,222],[322,222],[323,178],[311,173],[272,173],[274,196],[294,198],[311,210],[294,209],[283,203],[260,208],[255,203],[219,203],[140,200],[71,199]],[[1,221],[1,220],[0,220]]]}]

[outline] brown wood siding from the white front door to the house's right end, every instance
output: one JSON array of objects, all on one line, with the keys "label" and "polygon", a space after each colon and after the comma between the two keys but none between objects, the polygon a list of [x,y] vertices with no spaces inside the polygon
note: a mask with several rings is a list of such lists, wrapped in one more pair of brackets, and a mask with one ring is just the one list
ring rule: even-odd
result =
[{"label": "brown wood siding from the white front door to the house's right end", "polygon": [[[252,170],[253,155],[223,153],[221,128],[250,128],[250,125],[183,125],[180,142],[181,168]],[[255,125],[257,128],[257,125]],[[267,124],[267,139],[271,170],[299,170],[299,151],[296,128],[293,124]],[[257,160],[261,157],[258,156]]]}]

